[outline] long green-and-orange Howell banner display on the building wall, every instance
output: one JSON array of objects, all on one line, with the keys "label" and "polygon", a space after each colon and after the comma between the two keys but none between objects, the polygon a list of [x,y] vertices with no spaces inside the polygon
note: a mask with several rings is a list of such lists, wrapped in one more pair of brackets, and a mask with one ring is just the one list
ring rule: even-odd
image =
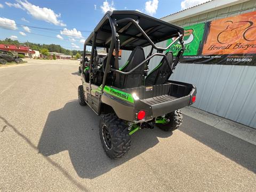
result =
[{"label": "long green-and-orange Howell banner display on the building wall", "polygon": [[[256,66],[256,11],[187,26],[184,43],[183,63]],[[167,51],[175,56],[177,48]]]}]

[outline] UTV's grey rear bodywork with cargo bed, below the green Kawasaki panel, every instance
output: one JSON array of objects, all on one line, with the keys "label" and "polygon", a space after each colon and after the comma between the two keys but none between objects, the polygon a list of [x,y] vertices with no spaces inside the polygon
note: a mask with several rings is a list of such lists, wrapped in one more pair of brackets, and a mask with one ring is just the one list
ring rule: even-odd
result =
[{"label": "UTV's grey rear bodywork with cargo bed, below the green Kawasaki panel", "polygon": [[[111,87],[110,89],[116,89]],[[174,110],[193,104],[196,87],[192,84],[168,81],[163,85],[140,86],[119,90],[133,97],[133,102],[104,92],[102,102],[113,106],[116,115],[126,121],[138,123],[171,113]],[[195,99],[195,98],[194,98]],[[138,119],[140,110],[146,112],[145,118]]]}]

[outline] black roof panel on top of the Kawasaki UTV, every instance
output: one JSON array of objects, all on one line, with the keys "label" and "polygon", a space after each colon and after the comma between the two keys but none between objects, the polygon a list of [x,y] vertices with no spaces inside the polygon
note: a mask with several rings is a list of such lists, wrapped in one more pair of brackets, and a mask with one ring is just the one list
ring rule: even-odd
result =
[{"label": "black roof panel on top of the Kawasaki UTV", "polygon": [[[149,15],[138,11],[108,11],[106,14],[109,14],[113,20],[117,21],[125,18],[131,18],[139,21],[140,27],[154,43],[162,42],[172,37],[177,37],[178,33],[184,34],[183,28],[154,17],[150,17]],[[94,31],[97,32],[95,46],[110,46],[112,32],[109,20],[105,17],[106,14],[94,29]],[[118,26],[116,26],[116,32],[119,34],[122,50],[132,50],[137,46],[145,47],[150,45],[148,40],[140,33],[139,29],[130,21],[119,23]],[[93,33],[86,39],[85,44],[91,46],[92,39]]]}]

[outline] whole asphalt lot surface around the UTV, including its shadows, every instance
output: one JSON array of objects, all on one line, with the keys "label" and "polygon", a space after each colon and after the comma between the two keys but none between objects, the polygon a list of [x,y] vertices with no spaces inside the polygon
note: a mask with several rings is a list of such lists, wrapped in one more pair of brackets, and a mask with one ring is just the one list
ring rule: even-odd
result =
[{"label": "whole asphalt lot surface around the UTV, including its shadows", "polygon": [[187,115],[109,159],[77,101],[78,62],[0,68],[0,191],[256,191],[256,146]]}]

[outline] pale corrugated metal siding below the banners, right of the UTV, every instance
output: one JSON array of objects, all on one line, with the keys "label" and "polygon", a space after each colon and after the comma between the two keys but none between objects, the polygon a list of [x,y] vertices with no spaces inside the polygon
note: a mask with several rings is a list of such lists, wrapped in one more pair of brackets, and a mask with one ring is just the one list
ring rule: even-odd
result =
[{"label": "pale corrugated metal siding below the banners, right of the UTV", "polygon": [[256,128],[256,67],[180,63],[171,80],[197,87],[196,108]]}]

